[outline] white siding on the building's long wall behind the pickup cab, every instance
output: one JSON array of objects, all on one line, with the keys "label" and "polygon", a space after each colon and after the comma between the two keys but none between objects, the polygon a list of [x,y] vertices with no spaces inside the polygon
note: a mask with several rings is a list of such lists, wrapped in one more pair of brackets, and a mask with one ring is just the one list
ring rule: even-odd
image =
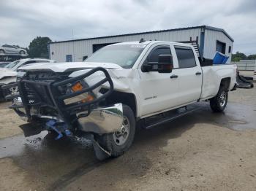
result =
[{"label": "white siding on the building's long wall behind the pickup cab", "polygon": [[[66,55],[72,55],[73,61],[82,61],[83,56],[92,54],[93,44],[104,44],[112,42],[129,42],[139,41],[141,38],[146,40],[160,40],[160,41],[189,41],[190,36],[195,40],[198,36],[200,44],[200,28],[165,31],[152,34],[135,34],[129,36],[106,37],[102,39],[88,39],[75,42],[59,42],[50,44],[50,59],[58,62],[65,62]],[[52,55],[53,52],[53,55]]]}]

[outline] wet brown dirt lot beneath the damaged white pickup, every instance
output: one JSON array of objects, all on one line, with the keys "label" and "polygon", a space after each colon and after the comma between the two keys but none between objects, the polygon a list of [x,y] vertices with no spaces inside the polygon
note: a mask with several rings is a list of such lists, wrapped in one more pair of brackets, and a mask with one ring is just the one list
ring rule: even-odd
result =
[{"label": "wet brown dirt lot beneath the damaged white pickup", "polygon": [[230,93],[223,114],[200,107],[99,162],[86,140],[25,138],[0,104],[0,190],[256,190],[256,89]]}]

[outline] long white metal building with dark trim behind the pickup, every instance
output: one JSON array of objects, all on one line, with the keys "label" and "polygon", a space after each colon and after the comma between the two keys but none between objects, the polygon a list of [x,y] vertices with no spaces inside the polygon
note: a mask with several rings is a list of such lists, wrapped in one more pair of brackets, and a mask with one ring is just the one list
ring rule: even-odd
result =
[{"label": "long white metal building with dark trim behind the pickup", "polygon": [[[216,51],[229,55],[233,50],[234,40],[222,28],[211,26],[195,26],[188,28],[167,29],[162,31],[148,31],[135,34],[121,34],[102,36],[89,39],[75,39],[50,43],[50,59],[66,61],[83,61],[99,48],[117,42],[159,40],[170,42],[197,41],[204,58],[212,59]],[[230,59],[228,60],[230,63]]]}]

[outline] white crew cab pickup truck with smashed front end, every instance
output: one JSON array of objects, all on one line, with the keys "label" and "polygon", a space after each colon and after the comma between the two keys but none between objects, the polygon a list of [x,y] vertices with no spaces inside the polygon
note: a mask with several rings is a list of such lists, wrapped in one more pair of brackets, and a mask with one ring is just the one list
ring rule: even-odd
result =
[{"label": "white crew cab pickup truck with smashed front end", "polygon": [[198,101],[209,101],[214,112],[225,109],[236,66],[203,66],[201,60],[191,44],[111,44],[84,62],[20,68],[10,108],[56,139],[91,139],[100,160],[118,157],[132,145],[138,125],[157,126]]}]

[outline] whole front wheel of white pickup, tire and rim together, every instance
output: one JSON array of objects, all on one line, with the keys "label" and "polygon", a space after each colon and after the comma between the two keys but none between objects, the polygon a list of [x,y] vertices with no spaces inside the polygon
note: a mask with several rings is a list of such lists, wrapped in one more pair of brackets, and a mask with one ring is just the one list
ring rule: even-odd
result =
[{"label": "whole front wheel of white pickup, tire and rim together", "polygon": [[110,152],[112,157],[123,155],[131,147],[135,137],[135,115],[132,109],[123,105],[123,125],[120,131],[97,136],[99,144]]}]

